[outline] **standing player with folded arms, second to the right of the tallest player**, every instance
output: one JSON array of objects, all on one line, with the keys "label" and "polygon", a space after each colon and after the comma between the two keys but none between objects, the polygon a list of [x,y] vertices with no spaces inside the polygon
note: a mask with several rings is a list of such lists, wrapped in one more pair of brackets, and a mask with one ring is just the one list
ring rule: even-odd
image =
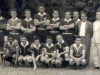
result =
[{"label": "standing player with folded arms, second to the right of the tallest player", "polygon": [[65,19],[60,25],[60,30],[62,31],[64,40],[66,40],[69,45],[72,45],[74,43],[74,21],[71,19],[71,11],[66,11]]}]

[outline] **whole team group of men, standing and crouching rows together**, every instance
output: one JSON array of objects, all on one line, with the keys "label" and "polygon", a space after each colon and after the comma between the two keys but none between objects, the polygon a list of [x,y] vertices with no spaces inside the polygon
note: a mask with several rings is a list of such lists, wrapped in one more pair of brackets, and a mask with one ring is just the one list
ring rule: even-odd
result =
[{"label": "whole team group of men, standing and crouching rows together", "polygon": [[[99,20],[100,11],[96,12],[96,21],[87,20],[86,12],[65,12],[59,17],[59,11],[53,10],[50,19],[45,12],[44,4],[38,6],[38,13],[31,18],[31,11],[24,11],[25,19],[17,18],[17,11],[10,11],[11,19],[6,21],[0,11],[0,49],[3,66],[5,60],[15,66],[28,62],[34,69],[37,63],[49,67],[73,67],[74,69],[89,66],[90,45],[92,38],[94,67],[100,68]],[[8,36],[5,42],[2,37]],[[93,37],[92,37],[93,36]],[[3,40],[3,41],[2,41]],[[3,45],[4,44],[4,45]]]}]

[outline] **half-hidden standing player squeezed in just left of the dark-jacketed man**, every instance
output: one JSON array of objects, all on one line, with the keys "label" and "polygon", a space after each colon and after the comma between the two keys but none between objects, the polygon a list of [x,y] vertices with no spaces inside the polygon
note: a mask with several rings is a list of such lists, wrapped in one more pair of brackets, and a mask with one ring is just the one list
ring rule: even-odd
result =
[{"label": "half-hidden standing player squeezed in just left of the dark-jacketed man", "polygon": [[75,23],[75,32],[74,32],[74,35],[78,35],[78,31],[77,31],[77,23],[79,22],[79,21],[81,21],[80,19],[79,19],[79,12],[78,11],[74,11],[73,12],[73,21],[74,21],[74,23]]}]

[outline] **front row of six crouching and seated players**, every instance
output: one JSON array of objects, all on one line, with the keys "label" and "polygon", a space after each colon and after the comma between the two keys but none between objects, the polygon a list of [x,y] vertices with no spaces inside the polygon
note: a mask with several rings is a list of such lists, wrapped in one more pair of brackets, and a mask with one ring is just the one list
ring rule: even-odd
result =
[{"label": "front row of six crouching and seated players", "polygon": [[62,35],[56,36],[57,44],[53,44],[52,37],[47,36],[46,43],[41,44],[38,37],[34,37],[33,43],[29,43],[25,35],[20,36],[20,42],[8,36],[8,42],[4,45],[3,67],[5,60],[15,66],[29,63],[37,68],[37,63],[45,67],[67,67],[74,69],[83,68],[86,64],[85,46],[81,44],[81,38],[76,36],[75,43],[69,48]]}]

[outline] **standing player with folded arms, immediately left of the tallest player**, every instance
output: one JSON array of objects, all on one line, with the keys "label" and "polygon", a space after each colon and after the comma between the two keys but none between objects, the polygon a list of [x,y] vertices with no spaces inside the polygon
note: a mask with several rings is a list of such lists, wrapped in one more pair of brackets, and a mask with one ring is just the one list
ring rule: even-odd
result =
[{"label": "standing player with folded arms, immediately left of the tallest player", "polygon": [[25,17],[26,18],[22,21],[21,30],[23,31],[23,34],[26,35],[27,40],[32,43],[36,28],[34,26],[34,20],[31,18],[31,11],[29,9],[25,10]]}]

